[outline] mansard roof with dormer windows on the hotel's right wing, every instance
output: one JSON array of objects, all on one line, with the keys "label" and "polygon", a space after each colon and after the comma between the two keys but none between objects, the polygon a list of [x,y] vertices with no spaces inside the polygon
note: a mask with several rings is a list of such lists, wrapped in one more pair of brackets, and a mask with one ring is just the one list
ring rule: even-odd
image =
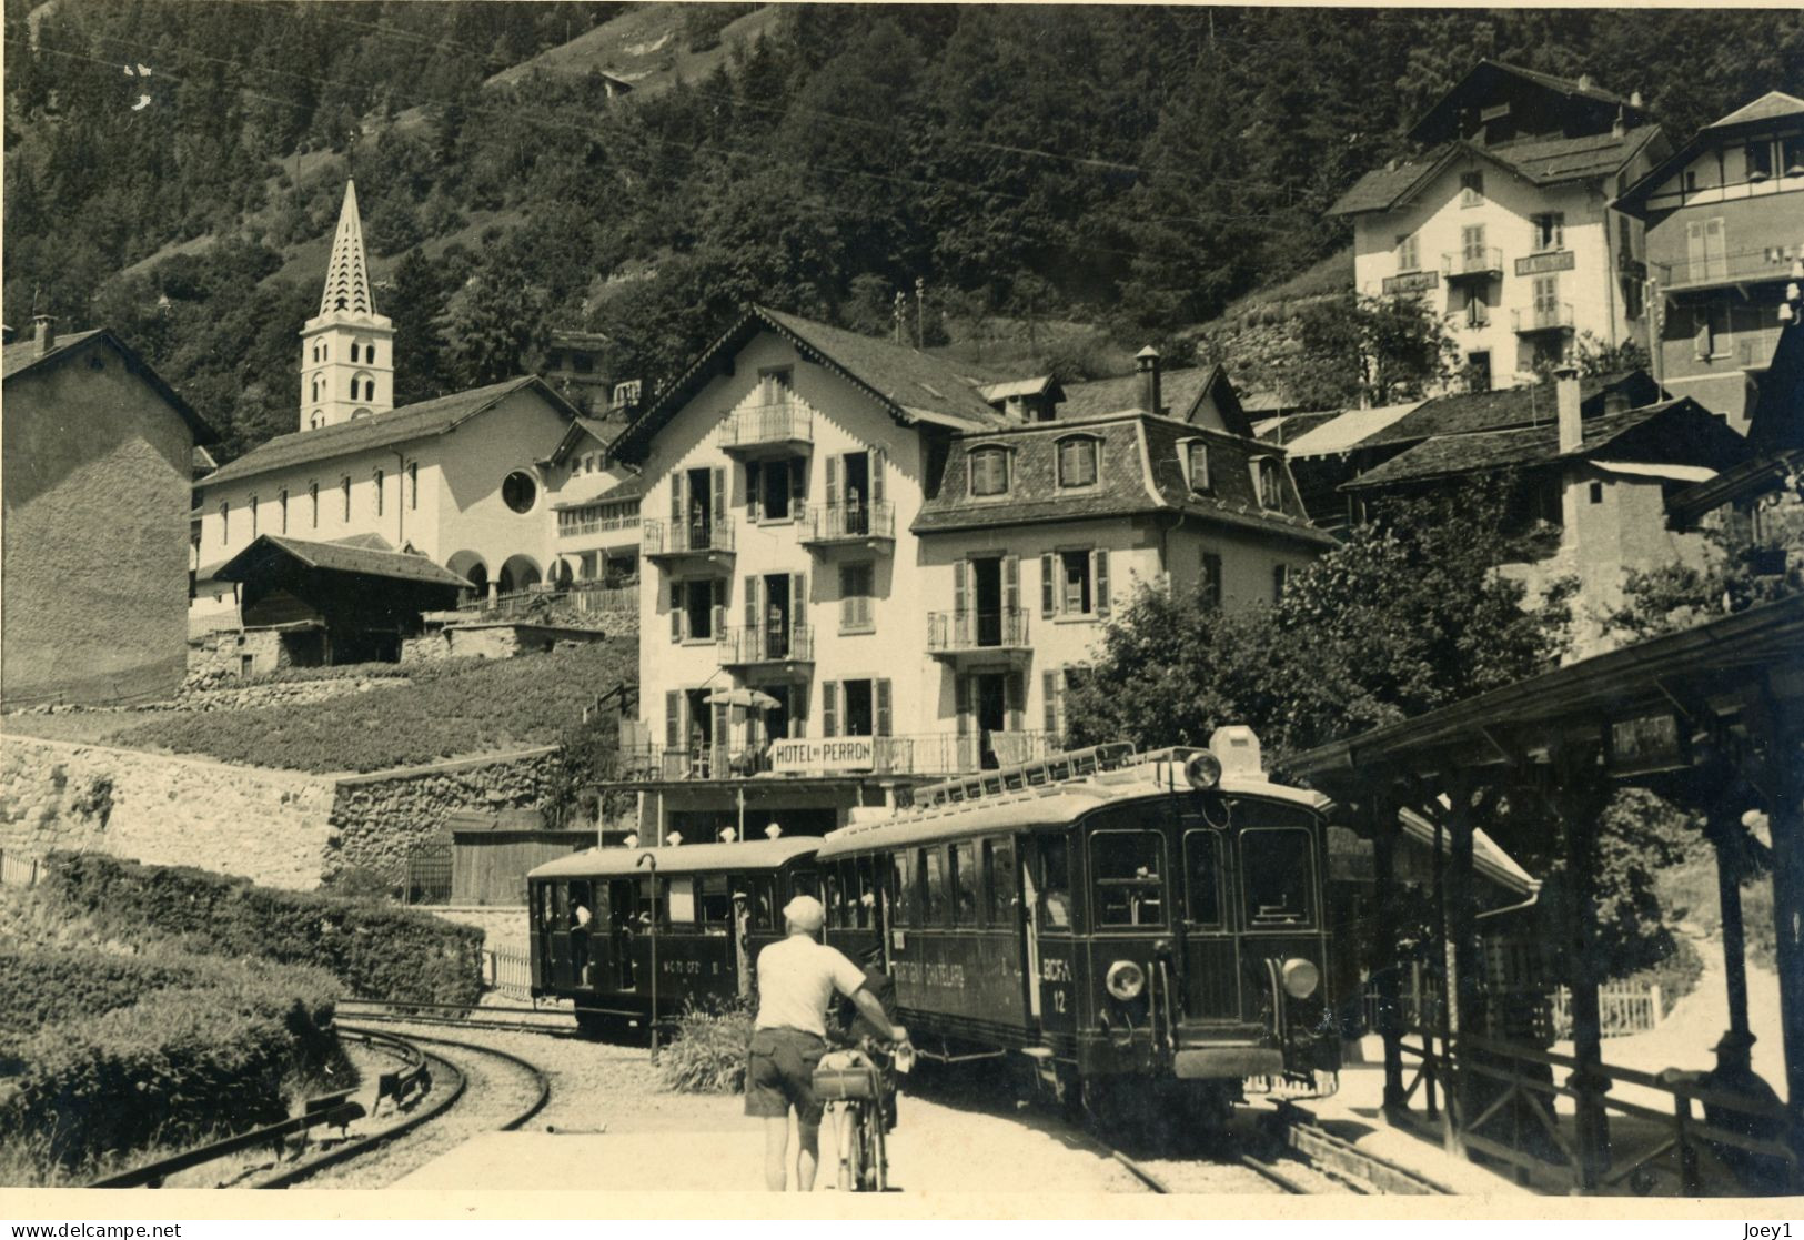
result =
[{"label": "mansard roof with dormer windows on the hotel's right wing", "polygon": [[[1100,440],[1095,487],[1057,486],[1057,442],[1072,435]],[[1210,495],[1191,495],[1178,457],[1178,440],[1198,437],[1209,440],[1214,480]],[[976,498],[971,495],[971,451],[992,444],[1010,449],[1008,495]],[[1061,419],[1012,426],[990,435],[962,435],[947,455],[938,495],[922,504],[911,529],[916,534],[934,534],[990,525],[1185,511],[1230,525],[1328,541],[1326,534],[1301,516],[1302,504],[1288,480],[1288,471],[1284,511],[1270,513],[1257,507],[1248,464],[1256,455],[1266,453],[1241,437],[1144,413]]]}]

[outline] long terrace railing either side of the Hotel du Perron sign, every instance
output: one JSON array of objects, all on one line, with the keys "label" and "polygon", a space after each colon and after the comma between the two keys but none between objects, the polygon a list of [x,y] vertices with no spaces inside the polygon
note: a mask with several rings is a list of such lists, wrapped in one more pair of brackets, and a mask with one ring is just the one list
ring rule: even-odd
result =
[{"label": "long terrace railing either side of the Hotel du Perron sign", "polygon": [[[1061,736],[1046,731],[992,731],[967,735],[922,733],[918,736],[871,736],[870,774],[974,774],[1021,762],[1050,758],[1063,751]],[[770,745],[640,745],[615,754],[612,780],[689,782],[734,780],[765,774]],[[861,774],[862,771],[850,771]],[[788,774],[806,774],[790,771]],[[848,774],[835,767],[833,774]]]}]

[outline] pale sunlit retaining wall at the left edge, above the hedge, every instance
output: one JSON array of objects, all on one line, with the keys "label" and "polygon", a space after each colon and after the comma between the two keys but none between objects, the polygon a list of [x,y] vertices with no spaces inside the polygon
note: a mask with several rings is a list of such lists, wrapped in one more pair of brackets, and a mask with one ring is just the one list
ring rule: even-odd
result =
[{"label": "pale sunlit retaining wall at the left edge, above the hedge", "polygon": [[0,848],[90,850],[312,888],[334,782],[292,771],[0,736]]}]

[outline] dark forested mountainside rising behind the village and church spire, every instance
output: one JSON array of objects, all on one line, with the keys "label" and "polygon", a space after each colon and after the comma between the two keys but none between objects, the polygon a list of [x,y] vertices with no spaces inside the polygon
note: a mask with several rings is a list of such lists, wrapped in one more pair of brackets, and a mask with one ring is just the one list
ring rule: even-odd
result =
[{"label": "dark forested mountainside rising behind the village and church spire", "polygon": [[[916,280],[929,343],[983,316],[1169,341],[1344,245],[1324,208],[1479,56],[1638,88],[1676,139],[1804,88],[1779,9],[673,5],[631,49],[669,49],[660,88],[610,101],[545,52],[624,5],[31,7],[7,321],[119,329],[226,455],[294,428],[346,168],[410,401],[532,366],[550,329],[653,384],[749,300],[888,330]],[[505,72],[541,54],[565,69]]]}]

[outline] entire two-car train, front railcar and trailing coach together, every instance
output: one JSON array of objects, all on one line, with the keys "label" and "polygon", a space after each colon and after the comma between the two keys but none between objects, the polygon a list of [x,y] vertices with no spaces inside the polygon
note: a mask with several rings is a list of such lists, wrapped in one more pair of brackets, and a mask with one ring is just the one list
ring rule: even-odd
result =
[{"label": "entire two-car train, front railcar and trailing coach together", "polygon": [[644,1029],[653,953],[662,1018],[745,995],[806,892],[828,942],[891,973],[925,1058],[1019,1058],[1099,1114],[1126,1085],[1198,1117],[1322,1096],[1340,1067],[1326,807],[1223,729],[1214,749],[985,771],[824,837],[575,854],[529,875],[532,989],[592,1032]]}]

